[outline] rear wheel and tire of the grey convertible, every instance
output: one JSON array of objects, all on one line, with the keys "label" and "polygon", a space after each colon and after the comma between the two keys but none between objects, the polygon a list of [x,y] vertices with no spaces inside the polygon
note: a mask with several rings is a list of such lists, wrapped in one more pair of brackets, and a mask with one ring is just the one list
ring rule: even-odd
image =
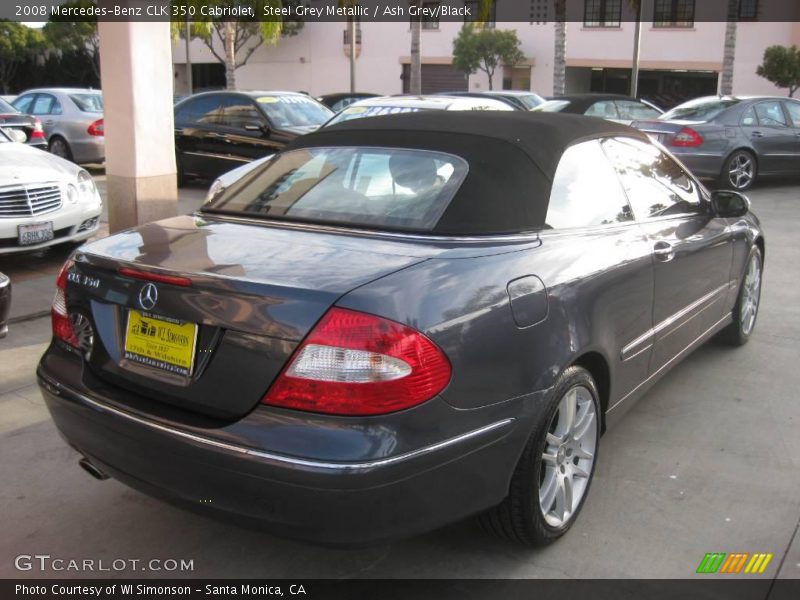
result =
[{"label": "rear wheel and tire of the grey convertible", "polygon": [[[575,417],[570,428],[565,407],[571,402]],[[594,476],[599,415],[599,395],[592,376],[582,367],[566,369],[522,452],[508,496],[478,517],[483,529],[528,546],[544,546],[564,535],[580,513]],[[576,430],[583,435],[576,439],[564,435]],[[561,481],[565,484],[559,485]],[[571,502],[567,502],[568,488]],[[566,504],[571,504],[571,509],[559,516],[560,506]]]}]

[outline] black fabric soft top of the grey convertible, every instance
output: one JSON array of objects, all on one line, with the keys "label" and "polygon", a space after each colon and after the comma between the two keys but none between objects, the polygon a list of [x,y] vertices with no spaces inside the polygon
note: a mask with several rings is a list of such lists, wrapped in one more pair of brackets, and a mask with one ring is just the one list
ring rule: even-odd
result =
[{"label": "black fabric soft top of the grey convertible", "polygon": [[486,235],[544,226],[556,168],[571,145],[646,134],[604,119],[559,113],[429,111],[354,119],[288,147],[416,148],[462,157],[469,172],[433,233]]}]

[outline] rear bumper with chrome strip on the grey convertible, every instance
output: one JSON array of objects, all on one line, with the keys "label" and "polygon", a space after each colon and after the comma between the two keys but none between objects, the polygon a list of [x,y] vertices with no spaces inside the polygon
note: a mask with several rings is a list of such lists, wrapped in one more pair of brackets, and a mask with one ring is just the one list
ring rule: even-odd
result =
[{"label": "rear bumper with chrome strip on the grey convertible", "polygon": [[134,414],[58,383],[44,362],[38,376],[64,438],[116,479],[187,508],[330,545],[408,537],[497,504],[529,431],[525,418],[497,418],[495,410],[491,422],[412,451],[378,456],[376,445],[372,459],[325,461]]}]

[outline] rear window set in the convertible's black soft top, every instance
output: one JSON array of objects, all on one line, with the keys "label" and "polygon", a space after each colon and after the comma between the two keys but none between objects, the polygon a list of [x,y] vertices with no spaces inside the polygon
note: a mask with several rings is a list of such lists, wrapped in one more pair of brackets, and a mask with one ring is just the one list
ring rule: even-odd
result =
[{"label": "rear window set in the convertible's black soft top", "polygon": [[399,148],[304,148],[277,155],[204,211],[430,231],[468,171],[464,159]]}]

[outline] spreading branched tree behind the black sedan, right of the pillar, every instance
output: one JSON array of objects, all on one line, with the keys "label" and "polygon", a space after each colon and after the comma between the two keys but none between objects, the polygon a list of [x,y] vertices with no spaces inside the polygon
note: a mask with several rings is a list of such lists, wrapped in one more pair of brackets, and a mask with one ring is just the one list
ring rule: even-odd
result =
[{"label": "spreading branched tree behind the black sedan, right of the pillar", "polygon": [[[174,6],[184,10],[173,11],[172,35],[183,37],[185,23],[190,20],[189,35],[198,38],[208,47],[214,57],[225,65],[225,87],[236,89],[236,69],[245,65],[253,53],[263,44],[275,45],[281,36],[296,35],[303,27],[301,20],[282,20],[280,17],[264,19],[265,8],[280,9],[286,5],[297,5],[301,0],[177,0]],[[204,17],[200,8],[206,10],[250,7],[251,18],[241,17],[237,21],[225,21]],[[262,20],[264,19],[264,20]],[[221,46],[221,49],[220,49]]]}]

